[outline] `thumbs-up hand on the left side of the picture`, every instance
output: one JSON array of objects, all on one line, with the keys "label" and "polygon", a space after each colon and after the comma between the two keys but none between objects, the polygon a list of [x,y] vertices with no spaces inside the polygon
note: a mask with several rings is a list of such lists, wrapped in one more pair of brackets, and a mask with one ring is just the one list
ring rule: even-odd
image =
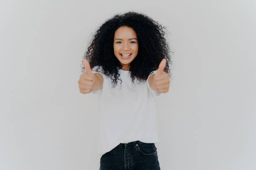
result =
[{"label": "thumbs-up hand on the left side of the picture", "polygon": [[95,77],[94,77],[95,75],[92,73],[90,64],[86,59],[83,60],[83,65],[86,71],[80,75],[78,84],[79,84],[80,92],[83,94],[86,94],[86,93],[90,93],[93,89],[93,85],[95,82]]}]

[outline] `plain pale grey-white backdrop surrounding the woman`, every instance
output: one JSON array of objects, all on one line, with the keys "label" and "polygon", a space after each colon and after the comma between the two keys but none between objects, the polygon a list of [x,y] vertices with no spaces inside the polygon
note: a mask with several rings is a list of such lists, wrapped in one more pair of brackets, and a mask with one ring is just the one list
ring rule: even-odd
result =
[{"label": "plain pale grey-white backdrop surrounding the woman", "polygon": [[94,32],[128,11],[166,26],[174,52],[154,98],[161,170],[255,170],[255,0],[2,0],[0,169],[99,169],[98,95],[77,81]]}]

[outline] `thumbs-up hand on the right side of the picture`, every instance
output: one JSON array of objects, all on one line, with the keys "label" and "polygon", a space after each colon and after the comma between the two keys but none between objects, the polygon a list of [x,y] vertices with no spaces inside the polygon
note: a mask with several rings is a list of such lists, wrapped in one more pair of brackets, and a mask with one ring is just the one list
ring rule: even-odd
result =
[{"label": "thumbs-up hand on the right side of the picture", "polygon": [[166,59],[164,58],[160,64],[158,69],[156,70],[156,74],[152,79],[155,90],[159,93],[166,93],[169,91],[169,75],[164,72],[164,67],[166,65]]}]

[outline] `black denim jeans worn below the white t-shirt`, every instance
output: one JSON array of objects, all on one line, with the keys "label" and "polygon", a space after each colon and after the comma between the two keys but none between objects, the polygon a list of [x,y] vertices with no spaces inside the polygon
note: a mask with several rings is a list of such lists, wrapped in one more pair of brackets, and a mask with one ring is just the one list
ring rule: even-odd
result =
[{"label": "black denim jeans worn below the white t-shirt", "polygon": [[160,170],[156,146],[139,140],[120,143],[101,156],[100,170]]}]

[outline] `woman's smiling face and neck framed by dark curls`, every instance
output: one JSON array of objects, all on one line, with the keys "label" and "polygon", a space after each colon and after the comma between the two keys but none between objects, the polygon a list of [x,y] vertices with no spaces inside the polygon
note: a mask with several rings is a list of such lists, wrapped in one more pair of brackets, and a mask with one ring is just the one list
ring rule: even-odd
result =
[{"label": "woman's smiling face and neck framed by dark curls", "polygon": [[138,38],[131,27],[122,26],[115,31],[114,53],[122,70],[130,70],[130,63],[138,54]]}]

